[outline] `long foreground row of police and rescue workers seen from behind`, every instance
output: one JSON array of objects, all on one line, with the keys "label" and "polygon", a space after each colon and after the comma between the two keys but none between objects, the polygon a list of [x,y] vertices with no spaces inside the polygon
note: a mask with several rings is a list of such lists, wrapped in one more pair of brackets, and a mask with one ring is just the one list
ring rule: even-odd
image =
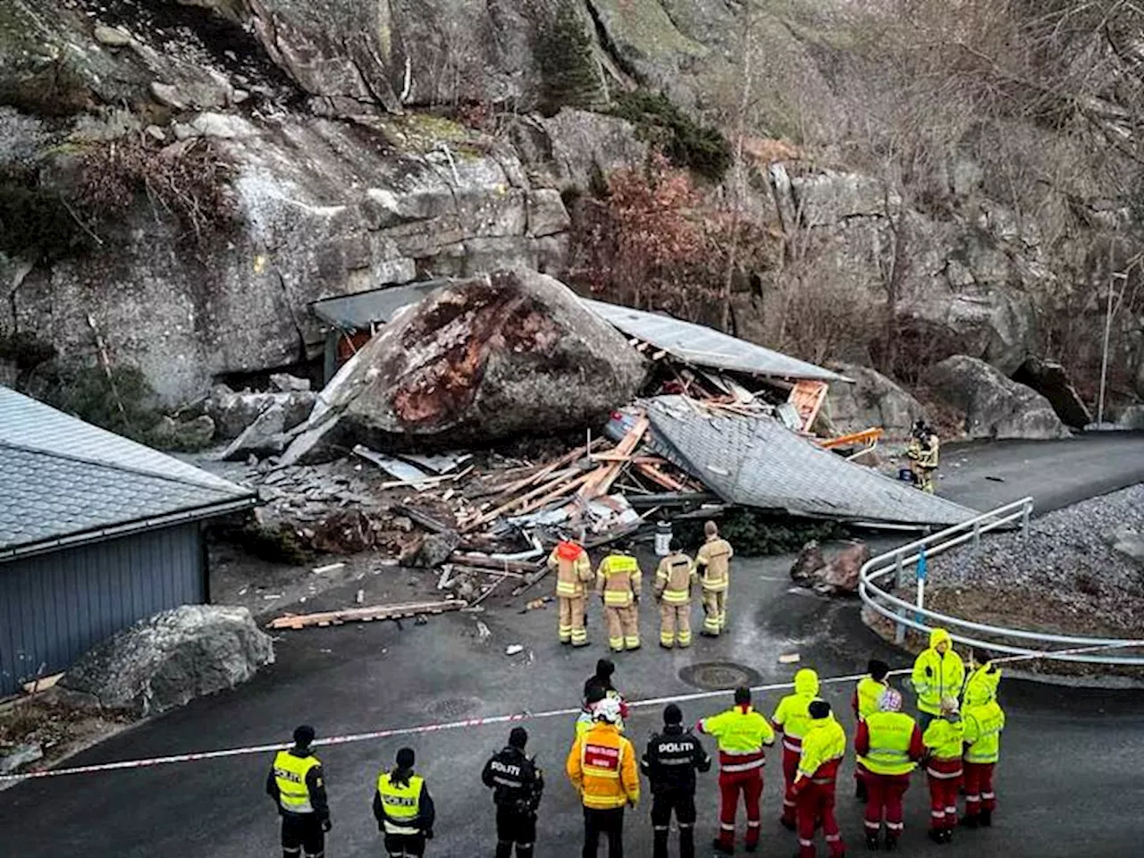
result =
[{"label": "long foreground row of police and rescue workers seen from behind", "polygon": [[[903,696],[891,688],[889,668],[871,661],[859,680],[851,706],[857,718],[853,750],[857,795],[865,801],[865,841],[871,851],[893,851],[904,829],[903,799],[909,776],[924,768],[930,795],[929,837],[948,843],[959,823],[958,795],[963,787],[961,823],[990,826],[996,807],[993,769],[998,762],[1004,712],[998,702],[1001,670],[987,653],[975,650],[969,674],[953,649],[948,633],[935,629],[929,646],[914,662],[911,684],[917,699],[916,717],[903,712]],[[651,737],[637,762],[625,736],[628,706],[615,689],[615,666],[601,659],[583,690],[575,738],[565,771],[583,805],[582,856],[597,855],[605,837],[610,858],[623,855],[623,813],[639,802],[639,771],[651,785],[653,858],[667,858],[674,816],[680,828],[680,856],[694,856],[697,772],[712,760],[697,734],[710,736],[718,747],[720,821],[713,847],[731,855],[736,816],[746,807],[745,849],[757,851],[762,833],[760,801],[766,748],[781,740],[781,824],[797,832],[796,858],[813,858],[819,828],[832,858],[845,855],[835,819],[839,768],[847,755],[847,736],[828,701],[819,697],[815,670],[800,669],[794,690],[770,718],[756,710],[749,689],[734,691],[725,712],[684,728],[675,704],[664,709],[664,728]],[[284,858],[320,858],[329,811],[321,764],[311,750],[313,730],[300,726],[295,746],[279,752],[267,779],[267,792],[283,818]],[[496,858],[532,858],[543,776],[525,753],[529,736],[514,728],[508,745],[485,764],[482,780],[493,791],[496,808]],[[378,776],[373,811],[390,858],[422,856],[434,836],[435,809],[424,779],[414,769],[411,748],[397,752],[396,765]],[[884,835],[883,835],[884,829]]]}]

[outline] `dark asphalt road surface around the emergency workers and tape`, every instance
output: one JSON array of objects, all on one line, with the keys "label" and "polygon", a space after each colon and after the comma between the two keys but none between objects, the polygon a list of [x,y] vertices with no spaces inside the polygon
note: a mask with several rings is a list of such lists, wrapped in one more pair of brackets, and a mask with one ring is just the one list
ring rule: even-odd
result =
[{"label": "dark asphalt road surface around the emergency workers and tape", "polygon": [[[960,460],[960,467],[954,467]],[[1044,445],[966,448],[946,456],[939,491],[979,508],[1033,493],[1059,506],[1144,479],[1144,443],[1137,438],[1083,439]],[[1002,476],[1003,483],[986,476]],[[799,666],[820,675],[858,672],[879,654],[897,656],[858,620],[852,602],[826,601],[792,590],[789,558],[741,561],[736,566],[729,633],[699,638],[688,651],[662,652],[656,642],[650,605],[642,618],[643,650],[620,656],[618,683],[631,699],[691,693],[684,668],[718,664],[747,669],[763,682],[786,681]],[[352,599],[352,589],[323,601]],[[491,635],[482,641],[477,617],[446,614],[428,625],[343,626],[286,633],[278,662],[233,692],[198,700],[93,748],[73,762],[96,763],[262,744],[286,739],[307,721],[319,736],[398,728],[513,712],[575,706],[580,685],[604,654],[598,609],[589,635],[594,645],[571,651],[555,641],[551,610],[518,614],[488,599],[479,615]],[[308,603],[308,607],[313,601]],[[319,605],[320,606],[320,605]],[[696,610],[698,618],[699,611]],[[508,644],[525,648],[506,657]],[[797,666],[780,665],[781,653],[799,652]],[[828,685],[824,696],[852,733],[850,686]],[[780,692],[760,700],[768,714]],[[1078,691],[1007,680],[1002,702],[1009,724],[998,771],[1000,810],[988,831],[959,832],[950,847],[924,839],[925,787],[917,778],[907,795],[903,850],[909,855],[1123,856],[1139,851],[1138,809],[1144,807],[1144,694]],[[726,696],[729,697],[729,696]],[[694,720],[724,708],[721,698],[684,705]],[[641,710],[628,734],[642,746],[658,725]],[[541,808],[537,855],[579,855],[581,817],[563,776],[572,718],[534,720],[530,750],[547,770],[549,789]],[[469,858],[492,853],[491,800],[479,782],[486,756],[503,744],[505,726],[450,730],[380,742],[324,749],[334,831],[327,855],[382,855],[370,802],[378,769],[398,747],[416,748],[438,807],[437,837],[429,855]],[[273,807],[262,792],[267,756],[230,757],[192,764],[77,776],[25,782],[0,793],[0,855],[45,858],[150,858],[209,855],[248,858],[277,853]],[[861,849],[860,807],[849,796],[850,763],[843,769],[839,810],[851,851]],[[792,834],[777,821],[780,779],[774,761],[766,769],[764,856],[795,851]],[[699,842],[716,828],[714,773],[702,778]],[[651,853],[646,802],[629,812],[631,856]],[[740,817],[740,836],[742,820]],[[820,847],[821,849],[821,847]]]}]

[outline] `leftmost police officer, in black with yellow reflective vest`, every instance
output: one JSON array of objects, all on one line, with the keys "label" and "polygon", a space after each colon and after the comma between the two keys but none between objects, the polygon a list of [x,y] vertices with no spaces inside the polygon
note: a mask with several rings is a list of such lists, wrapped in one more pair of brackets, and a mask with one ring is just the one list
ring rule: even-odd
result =
[{"label": "leftmost police officer, in black with yellow reflective vest", "polygon": [[283,858],[321,858],[331,828],[321,763],[310,750],[313,728],[294,731],[294,747],[279,750],[267,776],[267,794],[283,818]]}]

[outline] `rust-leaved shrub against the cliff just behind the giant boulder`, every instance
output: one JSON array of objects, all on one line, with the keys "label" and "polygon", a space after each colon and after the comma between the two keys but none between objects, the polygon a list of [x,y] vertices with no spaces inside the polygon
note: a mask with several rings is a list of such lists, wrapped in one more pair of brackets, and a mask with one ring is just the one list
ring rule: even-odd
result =
[{"label": "rust-leaved shrub against the cliff just behind the giant boulder", "polygon": [[[720,324],[736,284],[772,264],[774,237],[708,200],[685,169],[652,154],[613,172],[602,198],[573,205],[570,277],[621,304]],[[731,265],[731,246],[738,245]]]}]

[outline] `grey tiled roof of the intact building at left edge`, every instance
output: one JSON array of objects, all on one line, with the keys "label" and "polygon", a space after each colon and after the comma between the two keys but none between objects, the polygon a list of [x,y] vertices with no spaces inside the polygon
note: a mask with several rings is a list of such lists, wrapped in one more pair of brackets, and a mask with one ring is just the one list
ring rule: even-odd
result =
[{"label": "grey tiled roof of the intact building at left edge", "polygon": [[0,559],[253,493],[0,387]]}]

